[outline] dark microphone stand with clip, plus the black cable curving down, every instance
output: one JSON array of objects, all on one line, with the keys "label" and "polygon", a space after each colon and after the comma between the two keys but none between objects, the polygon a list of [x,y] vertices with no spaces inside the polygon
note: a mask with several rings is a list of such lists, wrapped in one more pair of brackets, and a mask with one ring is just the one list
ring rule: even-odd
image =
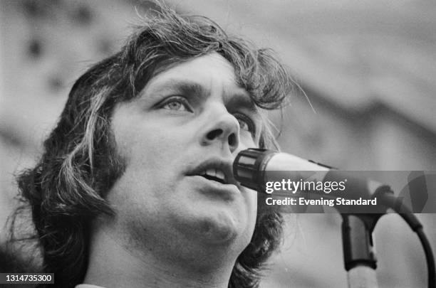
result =
[{"label": "dark microphone stand with clip, plus the black cable curving down", "polygon": [[[353,188],[356,190],[362,189],[362,183],[358,183]],[[360,193],[362,192],[363,191],[360,191]],[[377,198],[381,205],[369,208],[369,210],[368,208],[361,210],[361,208],[341,208],[340,206],[336,206],[336,210],[341,213],[343,219],[343,260],[348,276],[348,287],[378,287],[375,276],[377,260],[373,249],[372,234],[377,221],[382,215],[385,215],[388,208],[391,208],[408,223],[410,228],[412,228],[412,230],[417,233],[418,238],[420,238],[427,261],[428,287],[435,288],[435,259],[430,242],[428,242],[422,230],[420,221],[407,206],[403,205],[400,199],[395,198],[389,186],[378,186],[373,198]]]}]

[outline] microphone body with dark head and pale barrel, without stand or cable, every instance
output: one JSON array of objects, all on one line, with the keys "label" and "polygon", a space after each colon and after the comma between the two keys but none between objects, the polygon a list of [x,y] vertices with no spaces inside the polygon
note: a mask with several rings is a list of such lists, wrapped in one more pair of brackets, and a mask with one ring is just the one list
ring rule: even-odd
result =
[{"label": "microphone body with dark head and pale barrel, without stand or cable", "polygon": [[[233,174],[242,186],[259,193],[271,193],[272,196],[322,196],[333,199],[360,199],[361,202],[374,200],[380,193],[392,193],[389,186],[358,176],[355,171],[340,171],[298,156],[267,149],[246,149],[239,152],[234,159]],[[332,187],[332,183],[335,183],[335,187]],[[313,189],[316,187],[315,184],[321,187],[321,190]],[[376,201],[372,206],[375,205]],[[370,213],[378,213],[379,210],[370,209]]]}]

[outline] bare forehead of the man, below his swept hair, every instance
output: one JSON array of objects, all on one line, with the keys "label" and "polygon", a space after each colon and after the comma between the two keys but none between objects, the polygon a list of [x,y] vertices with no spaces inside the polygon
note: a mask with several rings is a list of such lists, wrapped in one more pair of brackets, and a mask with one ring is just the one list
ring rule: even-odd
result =
[{"label": "bare forehead of the man, below his swept hair", "polygon": [[232,64],[218,53],[210,53],[170,65],[165,70],[158,71],[145,85],[144,90],[154,92],[153,90],[170,89],[175,86],[185,87],[186,90],[190,89],[194,92],[218,91],[224,96],[228,95],[229,98],[245,98],[245,102],[251,102],[249,93],[237,84]]}]

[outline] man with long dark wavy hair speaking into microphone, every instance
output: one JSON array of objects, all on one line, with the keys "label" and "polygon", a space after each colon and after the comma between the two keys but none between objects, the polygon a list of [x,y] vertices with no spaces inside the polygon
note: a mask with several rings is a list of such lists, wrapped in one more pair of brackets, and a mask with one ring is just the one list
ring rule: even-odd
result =
[{"label": "man with long dark wavy hair speaking into microphone", "polygon": [[[269,50],[165,6],[77,80],[19,176],[56,287],[256,287],[281,237],[232,176],[274,147],[261,108],[291,86]],[[51,286],[53,287],[53,285]]]}]

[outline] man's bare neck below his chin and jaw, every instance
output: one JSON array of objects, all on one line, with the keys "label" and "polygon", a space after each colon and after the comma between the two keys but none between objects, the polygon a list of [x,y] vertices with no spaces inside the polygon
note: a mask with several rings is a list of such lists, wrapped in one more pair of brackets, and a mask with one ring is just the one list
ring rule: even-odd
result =
[{"label": "man's bare neck below his chin and jaw", "polygon": [[126,242],[97,229],[90,242],[84,283],[106,288],[228,287],[234,260],[220,261],[226,257],[219,253],[209,257],[201,252],[191,253],[190,257],[171,257],[153,247],[144,251]]}]

